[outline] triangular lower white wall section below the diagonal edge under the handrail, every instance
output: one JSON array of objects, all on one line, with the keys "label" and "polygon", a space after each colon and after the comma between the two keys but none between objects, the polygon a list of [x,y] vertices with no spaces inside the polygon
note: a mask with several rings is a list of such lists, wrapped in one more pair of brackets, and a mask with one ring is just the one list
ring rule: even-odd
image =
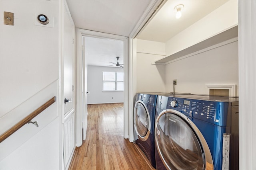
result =
[{"label": "triangular lower white wall section below the diagonal edge under the handrail", "polygon": [[1,170],[58,170],[59,132],[54,130],[58,126],[57,118],[4,158]]}]

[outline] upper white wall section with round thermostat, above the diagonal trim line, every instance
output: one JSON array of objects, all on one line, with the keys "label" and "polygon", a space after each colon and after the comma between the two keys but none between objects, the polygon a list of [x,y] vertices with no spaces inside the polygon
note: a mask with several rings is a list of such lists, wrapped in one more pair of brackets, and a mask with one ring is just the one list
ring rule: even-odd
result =
[{"label": "upper white wall section with round thermostat, above the diagonal trim line", "polygon": [[[0,116],[58,79],[58,2],[3,0],[14,26],[1,20]],[[54,28],[34,25],[34,14],[54,16]],[[37,40],[37,41],[35,41]],[[18,82],[18,83],[17,83]]]}]

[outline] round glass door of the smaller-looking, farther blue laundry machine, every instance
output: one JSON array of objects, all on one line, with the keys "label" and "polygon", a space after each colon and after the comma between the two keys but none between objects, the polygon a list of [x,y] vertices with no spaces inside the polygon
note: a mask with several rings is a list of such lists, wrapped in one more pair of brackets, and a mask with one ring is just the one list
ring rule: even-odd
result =
[{"label": "round glass door of the smaller-looking, farther blue laundry machine", "polygon": [[150,134],[150,116],[146,105],[140,100],[136,102],[134,107],[134,129],[140,140],[146,141]]}]

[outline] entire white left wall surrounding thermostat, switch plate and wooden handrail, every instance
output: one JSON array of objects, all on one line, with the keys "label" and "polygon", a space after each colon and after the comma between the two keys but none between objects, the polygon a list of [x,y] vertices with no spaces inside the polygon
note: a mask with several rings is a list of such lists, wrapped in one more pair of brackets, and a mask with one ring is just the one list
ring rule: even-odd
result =
[{"label": "entire white left wall surrounding thermostat, switch plate and wooden handrail", "polygon": [[[1,170],[60,167],[58,114],[60,1],[1,0],[4,11],[14,13],[14,25],[0,22],[1,134],[53,96],[57,102],[0,144]],[[54,27],[34,25],[34,14],[46,14]],[[52,20],[52,17],[54,20]],[[51,23],[50,23],[51,24]]]}]

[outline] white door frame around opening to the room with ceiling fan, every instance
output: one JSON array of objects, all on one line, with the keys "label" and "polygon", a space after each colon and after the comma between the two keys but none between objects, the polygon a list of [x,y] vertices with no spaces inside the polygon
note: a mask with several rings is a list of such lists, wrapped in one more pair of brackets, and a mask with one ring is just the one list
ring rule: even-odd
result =
[{"label": "white door frame around opening to the room with ceiling fan", "polygon": [[[82,145],[82,41],[83,37],[97,37],[103,39],[117,39],[124,42],[124,138],[128,138],[128,37],[77,29],[77,57],[76,57],[76,146]],[[85,95],[85,92],[84,92]],[[87,114],[87,113],[86,113]],[[87,125],[86,125],[87,126]],[[86,129],[84,129],[86,131]]]}]

